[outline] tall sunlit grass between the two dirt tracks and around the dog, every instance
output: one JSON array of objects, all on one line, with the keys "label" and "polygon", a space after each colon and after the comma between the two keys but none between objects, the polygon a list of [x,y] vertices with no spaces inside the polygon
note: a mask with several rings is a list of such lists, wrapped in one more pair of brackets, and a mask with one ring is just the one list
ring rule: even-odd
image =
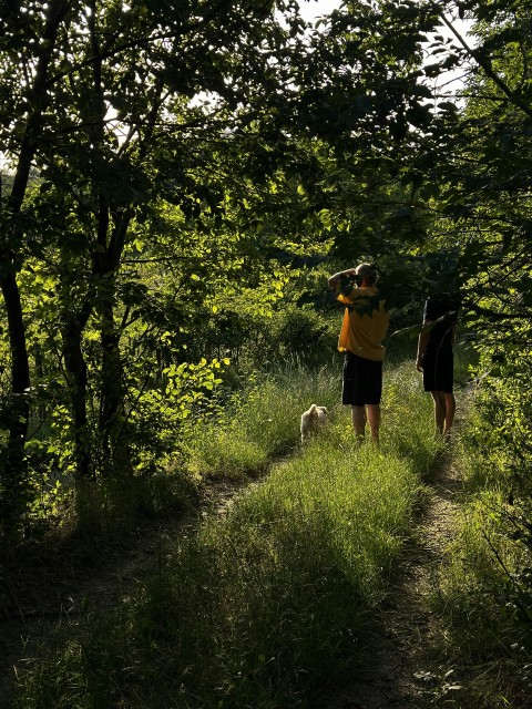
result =
[{"label": "tall sunlit grass between the two dirt tracks and around the dog", "polygon": [[[386,381],[381,448],[357,448],[348,413],[335,409],[319,438],[162,556],[142,592],[71,628],[22,677],[19,709],[309,706],[378,614],[440,445],[411,363]],[[224,450],[235,439],[253,442],[263,464],[294,446],[300,412],[334,404],[338,386],[337,371],[297,368],[257,384],[233,435],[216,439],[224,464],[237,465],[239,449]]]}]

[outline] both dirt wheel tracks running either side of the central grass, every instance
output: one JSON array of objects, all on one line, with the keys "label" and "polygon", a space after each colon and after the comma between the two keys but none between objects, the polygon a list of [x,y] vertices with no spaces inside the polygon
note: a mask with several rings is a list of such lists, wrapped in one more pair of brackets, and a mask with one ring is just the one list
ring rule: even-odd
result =
[{"label": "both dirt wheel tracks running either side of the central grass", "polygon": [[[316,709],[422,709],[446,682],[458,681],[453,675],[446,678],[451,668],[439,667],[431,656],[438,620],[427,604],[452,537],[461,491],[452,451],[436,465],[429,486],[431,499],[417,520],[392,582],[391,600],[379,610],[377,630],[360,653],[361,661]],[[236,492],[232,486],[213,491],[208,508],[223,513]],[[61,624],[112,607],[134,593],[186,524],[139,527],[122,547],[99,548],[88,558],[44,559],[33,569],[24,566],[20,576],[2,574],[0,567],[0,709],[12,706],[13,666],[23,669],[31,661],[24,658],[42,655],[50,634]]]}]

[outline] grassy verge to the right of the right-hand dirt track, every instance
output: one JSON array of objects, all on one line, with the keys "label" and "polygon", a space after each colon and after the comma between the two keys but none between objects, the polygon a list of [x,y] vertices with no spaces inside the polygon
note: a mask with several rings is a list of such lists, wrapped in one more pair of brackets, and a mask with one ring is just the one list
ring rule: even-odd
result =
[{"label": "grassy verge to the right of the right-hand dirt track", "polygon": [[439,653],[463,685],[462,709],[525,709],[532,681],[530,505],[513,500],[512,453],[484,414],[472,407],[457,442],[466,495],[432,598],[441,616]]}]

